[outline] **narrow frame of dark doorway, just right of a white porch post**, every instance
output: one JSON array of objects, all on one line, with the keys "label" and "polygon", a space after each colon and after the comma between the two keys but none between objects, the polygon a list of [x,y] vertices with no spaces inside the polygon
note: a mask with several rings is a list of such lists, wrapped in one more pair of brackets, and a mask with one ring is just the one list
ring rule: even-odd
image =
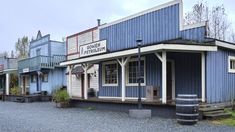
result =
[{"label": "narrow frame of dark doorway, just right of a white porch post", "polygon": [[171,96],[172,96],[172,100],[175,100],[175,61],[174,60],[167,60],[167,62],[170,62],[171,63],[171,88],[172,88],[172,93],[171,93]]}]

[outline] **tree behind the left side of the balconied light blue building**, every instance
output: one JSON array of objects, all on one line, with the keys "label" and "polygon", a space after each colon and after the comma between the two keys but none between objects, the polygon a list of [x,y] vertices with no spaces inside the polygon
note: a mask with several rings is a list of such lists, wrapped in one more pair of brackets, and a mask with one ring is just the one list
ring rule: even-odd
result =
[{"label": "tree behind the left side of the balconied light blue building", "polygon": [[15,44],[15,48],[19,59],[27,58],[29,50],[28,37],[24,36],[23,38],[19,38]]}]

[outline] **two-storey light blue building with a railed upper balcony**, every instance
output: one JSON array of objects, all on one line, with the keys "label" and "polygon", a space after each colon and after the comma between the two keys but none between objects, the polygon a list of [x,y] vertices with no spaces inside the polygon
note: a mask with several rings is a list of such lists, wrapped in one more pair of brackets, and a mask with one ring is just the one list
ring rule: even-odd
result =
[{"label": "two-storey light blue building with a railed upper balcony", "polygon": [[65,43],[38,32],[36,40],[30,42],[29,57],[18,62],[22,94],[41,91],[51,94],[54,89],[66,86],[66,67],[59,66],[66,60],[65,49]]}]

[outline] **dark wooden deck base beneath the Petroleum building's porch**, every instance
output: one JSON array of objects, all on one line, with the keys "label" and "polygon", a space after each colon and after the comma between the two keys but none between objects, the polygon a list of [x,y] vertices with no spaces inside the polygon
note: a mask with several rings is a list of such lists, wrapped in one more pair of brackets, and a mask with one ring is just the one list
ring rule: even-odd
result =
[{"label": "dark wooden deck base beneath the Petroleum building's porch", "polygon": [[[72,97],[72,101],[81,101],[81,102],[96,102],[96,103],[115,103],[115,104],[138,104],[137,99],[126,99],[124,102],[121,99],[103,99],[103,98],[97,98],[97,97],[92,97],[83,99],[79,97]],[[168,105],[168,106],[175,106],[175,101],[173,100],[168,100],[167,104],[162,104],[160,100],[156,101],[146,101],[142,100],[142,104],[144,105]]]}]

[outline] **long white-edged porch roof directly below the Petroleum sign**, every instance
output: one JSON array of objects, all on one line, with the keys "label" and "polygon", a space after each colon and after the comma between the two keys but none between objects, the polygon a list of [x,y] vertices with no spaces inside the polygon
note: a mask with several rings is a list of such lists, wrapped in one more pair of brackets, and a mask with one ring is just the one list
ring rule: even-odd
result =
[{"label": "long white-edged porch roof directly below the Petroleum sign", "polygon": [[[161,52],[162,50],[165,51],[188,51],[188,52],[202,52],[202,51],[217,51],[217,45],[213,43],[206,43],[206,44],[199,44],[199,43],[178,43],[179,41],[166,41],[167,43],[161,43],[157,45],[149,45],[141,47],[141,54],[148,54],[148,53],[154,53],[154,52]],[[186,41],[184,41],[186,42]],[[82,57],[79,59],[69,60],[61,62],[61,66],[66,65],[74,65],[74,64],[81,64],[81,63],[97,63],[100,61],[110,60],[110,59],[116,59],[120,57],[127,57],[127,56],[133,56],[137,55],[138,48],[132,48],[132,49],[125,49],[121,51],[115,51],[115,52],[107,52],[100,55],[94,55],[94,56],[88,56],[88,57]]]}]

